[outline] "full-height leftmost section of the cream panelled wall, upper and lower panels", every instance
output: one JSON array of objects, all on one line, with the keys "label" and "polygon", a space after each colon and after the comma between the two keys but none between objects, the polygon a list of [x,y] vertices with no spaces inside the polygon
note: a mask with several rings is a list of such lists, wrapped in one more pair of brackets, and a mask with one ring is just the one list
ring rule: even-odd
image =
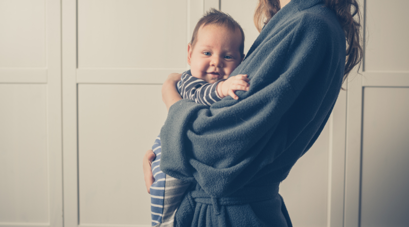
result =
[{"label": "full-height leftmost section of the cream panelled wall, upper and lower panels", "polygon": [[0,226],[61,226],[61,14],[0,1]]}]

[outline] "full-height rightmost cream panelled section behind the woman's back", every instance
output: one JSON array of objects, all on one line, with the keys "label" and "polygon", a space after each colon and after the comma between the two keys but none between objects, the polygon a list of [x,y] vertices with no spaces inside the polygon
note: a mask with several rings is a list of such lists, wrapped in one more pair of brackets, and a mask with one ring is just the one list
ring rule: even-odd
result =
[{"label": "full-height rightmost cream panelled section behind the woman's back", "polygon": [[362,76],[348,83],[344,225],[407,226],[408,2],[365,6]]}]

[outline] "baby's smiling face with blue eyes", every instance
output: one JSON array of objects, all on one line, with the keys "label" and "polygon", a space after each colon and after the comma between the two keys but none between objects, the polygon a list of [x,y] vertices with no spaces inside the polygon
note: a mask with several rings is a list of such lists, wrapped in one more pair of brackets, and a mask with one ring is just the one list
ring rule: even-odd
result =
[{"label": "baby's smiling face with blue eyes", "polygon": [[241,32],[207,25],[197,32],[197,41],[188,45],[192,76],[208,83],[227,79],[243,60],[239,51]]}]

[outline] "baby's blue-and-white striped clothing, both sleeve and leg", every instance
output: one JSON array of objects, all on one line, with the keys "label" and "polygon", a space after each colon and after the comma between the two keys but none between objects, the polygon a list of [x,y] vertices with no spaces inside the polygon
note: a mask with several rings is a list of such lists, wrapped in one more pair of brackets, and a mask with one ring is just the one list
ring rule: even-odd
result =
[{"label": "baby's blue-and-white striped clothing, both sleeve and leg", "polygon": [[[181,80],[177,83],[177,88],[183,98],[189,98],[198,104],[210,106],[221,100],[216,89],[219,82],[209,84],[184,72]],[[172,178],[161,171],[160,136],[156,137],[152,150],[156,155],[152,162],[152,174],[155,181],[150,187],[152,226],[173,226],[177,207],[190,183]]]}]

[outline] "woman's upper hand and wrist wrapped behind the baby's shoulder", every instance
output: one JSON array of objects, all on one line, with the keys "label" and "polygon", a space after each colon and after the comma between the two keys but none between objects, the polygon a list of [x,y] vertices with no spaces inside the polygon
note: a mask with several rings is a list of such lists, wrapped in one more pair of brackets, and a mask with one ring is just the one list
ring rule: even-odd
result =
[{"label": "woman's upper hand and wrist wrapped behind the baby's shoulder", "polygon": [[162,100],[169,111],[170,106],[182,99],[179,92],[177,92],[176,84],[180,81],[180,73],[171,73],[162,85]]}]

